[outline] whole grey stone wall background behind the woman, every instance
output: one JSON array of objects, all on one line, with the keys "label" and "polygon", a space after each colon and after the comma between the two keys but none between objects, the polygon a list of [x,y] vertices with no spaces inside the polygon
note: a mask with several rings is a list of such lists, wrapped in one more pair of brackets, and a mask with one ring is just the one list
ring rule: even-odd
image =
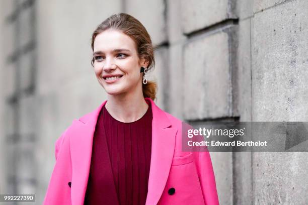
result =
[{"label": "whole grey stone wall background behind the woman", "polygon": [[[1,194],[42,203],[56,139],[106,99],[90,43],[115,13],[148,30],[156,102],[177,118],[308,121],[305,0],[1,0],[0,8]],[[307,204],[306,152],[211,157],[220,204]]]}]

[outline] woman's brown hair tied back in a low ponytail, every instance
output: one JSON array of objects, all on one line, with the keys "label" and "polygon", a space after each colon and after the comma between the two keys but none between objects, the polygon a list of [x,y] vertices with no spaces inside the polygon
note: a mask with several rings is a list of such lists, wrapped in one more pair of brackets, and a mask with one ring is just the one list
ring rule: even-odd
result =
[{"label": "woman's brown hair tied back in a low ponytail", "polygon": [[[137,19],[125,13],[110,16],[96,28],[92,34],[92,51],[94,51],[94,40],[96,36],[110,28],[123,32],[135,42],[139,59],[145,59],[148,62],[148,70],[155,67],[154,48],[149,34]],[[91,64],[94,66],[94,58]],[[156,89],[156,82],[147,81],[146,84],[142,83],[144,97],[149,97],[154,100],[156,98]]]}]

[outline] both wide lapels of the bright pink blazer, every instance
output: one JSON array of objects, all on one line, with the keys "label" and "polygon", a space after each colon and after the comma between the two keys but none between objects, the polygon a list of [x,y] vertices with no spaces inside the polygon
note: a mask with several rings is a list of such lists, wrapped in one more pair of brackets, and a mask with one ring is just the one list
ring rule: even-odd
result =
[{"label": "both wide lapels of the bright pink blazer", "polygon": [[[148,179],[146,205],[157,204],[167,183],[172,164],[175,136],[177,130],[164,111],[155,105],[152,99],[145,97],[152,108],[152,146]],[[103,102],[95,111],[80,120],[72,122],[67,135],[70,136],[70,154],[72,164],[71,202],[83,204],[88,185],[93,136],[99,112],[106,104]]]}]

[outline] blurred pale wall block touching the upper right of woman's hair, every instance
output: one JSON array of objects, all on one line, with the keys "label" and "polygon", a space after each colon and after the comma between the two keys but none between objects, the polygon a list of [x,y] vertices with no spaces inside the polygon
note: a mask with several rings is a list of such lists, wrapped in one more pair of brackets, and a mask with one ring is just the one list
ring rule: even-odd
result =
[{"label": "blurred pale wall block touching the upper right of woman's hair", "polygon": [[167,41],[166,1],[127,0],[124,11],[143,24],[154,45]]}]

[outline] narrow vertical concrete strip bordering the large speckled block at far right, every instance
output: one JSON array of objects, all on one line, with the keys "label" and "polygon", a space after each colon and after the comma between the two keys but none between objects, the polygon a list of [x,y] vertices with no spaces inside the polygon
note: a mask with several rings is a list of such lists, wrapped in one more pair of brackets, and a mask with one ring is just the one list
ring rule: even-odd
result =
[{"label": "narrow vertical concrete strip bordering the large speckled block at far right", "polygon": [[238,76],[240,121],[251,116],[251,19],[239,22]]}]

